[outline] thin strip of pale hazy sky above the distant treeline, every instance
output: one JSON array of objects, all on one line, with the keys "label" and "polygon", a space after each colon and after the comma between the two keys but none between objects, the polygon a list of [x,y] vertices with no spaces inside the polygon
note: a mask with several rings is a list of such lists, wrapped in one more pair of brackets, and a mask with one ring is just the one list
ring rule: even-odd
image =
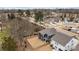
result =
[{"label": "thin strip of pale hazy sky above the distant treeline", "polygon": [[79,9],[79,7],[0,7],[0,9]]}]

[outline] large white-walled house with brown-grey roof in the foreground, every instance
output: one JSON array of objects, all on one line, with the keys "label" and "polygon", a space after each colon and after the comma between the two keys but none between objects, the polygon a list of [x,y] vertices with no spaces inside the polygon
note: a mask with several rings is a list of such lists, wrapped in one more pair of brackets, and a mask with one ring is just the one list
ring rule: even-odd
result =
[{"label": "large white-walled house with brown-grey roof in the foreground", "polygon": [[70,51],[74,49],[78,43],[78,40],[74,36],[62,32],[57,32],[56,35],[51,38],[51,45],[57,51]]}]

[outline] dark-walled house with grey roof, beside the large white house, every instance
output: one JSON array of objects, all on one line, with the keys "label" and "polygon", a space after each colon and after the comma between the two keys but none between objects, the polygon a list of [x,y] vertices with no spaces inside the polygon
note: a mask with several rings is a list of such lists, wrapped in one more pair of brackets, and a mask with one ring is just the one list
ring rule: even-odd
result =
[{"label": "dark-walled house with grey roof, beside the large white house", "polygon": [[54,28],[47,28],[39,31],[38,37],[43,41],[50,41],[50,39],[55,35],[56,29]]}]

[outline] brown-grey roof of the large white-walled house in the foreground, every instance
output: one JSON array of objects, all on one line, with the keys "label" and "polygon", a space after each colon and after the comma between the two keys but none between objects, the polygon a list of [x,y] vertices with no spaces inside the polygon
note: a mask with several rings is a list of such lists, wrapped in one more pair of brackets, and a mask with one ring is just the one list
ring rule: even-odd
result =
[{"label": "brown-grey roof of the large white-walled house in the foreground", "polygon": [[51,38],[51,40],[54,40],[59,44],[61,44],[62,46],[65,46],[72,39],[72,37],[73,36],[69,36],[65,33],[57,32],[56,35]]}]

